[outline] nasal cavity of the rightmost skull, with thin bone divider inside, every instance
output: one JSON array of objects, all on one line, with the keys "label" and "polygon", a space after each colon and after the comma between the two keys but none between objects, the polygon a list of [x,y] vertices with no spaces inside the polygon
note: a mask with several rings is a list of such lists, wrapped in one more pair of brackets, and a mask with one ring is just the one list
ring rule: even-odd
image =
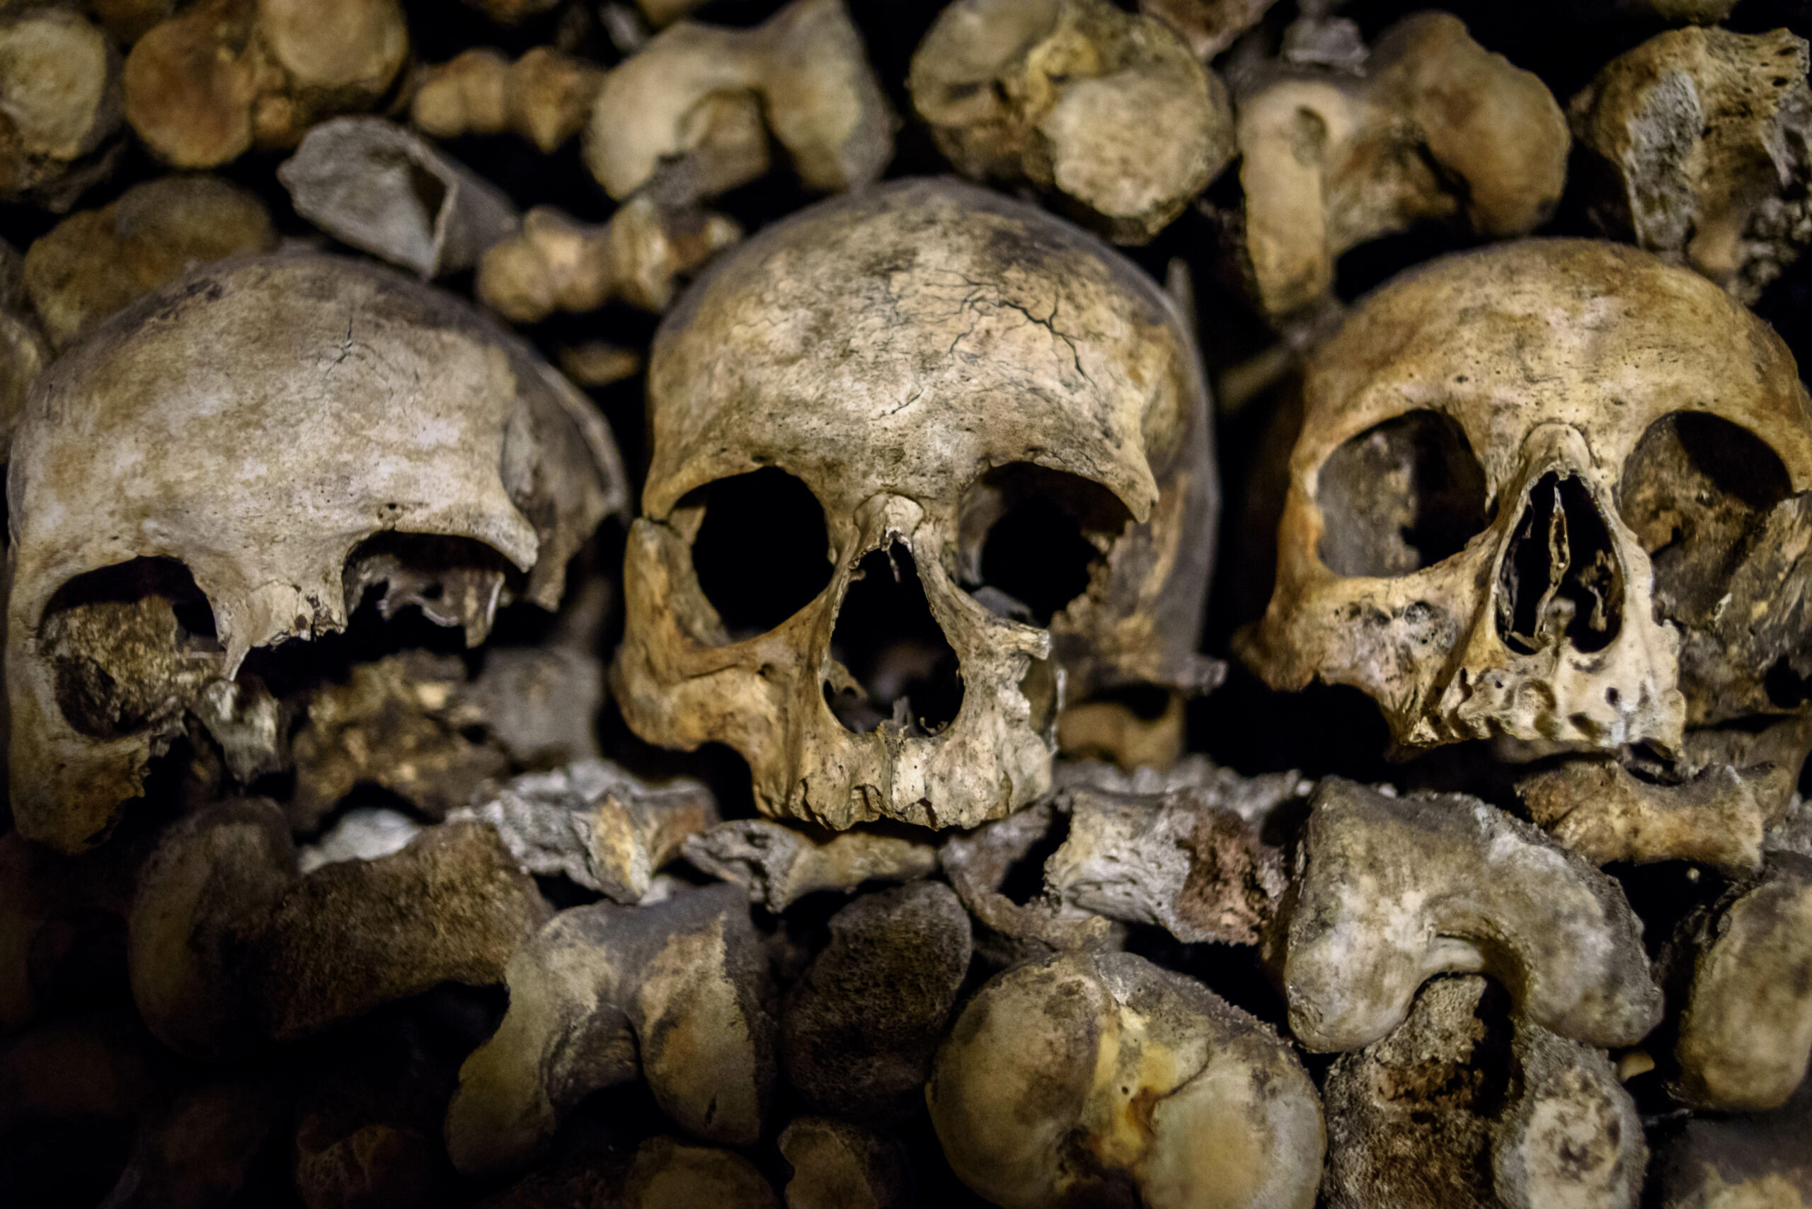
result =
[{"label": "nasal cavity of the rightmost skull, with thin bone divider inside", "polygon": [[1576,478],[1549,471],[1529,490],[1499,568],[1497,632],[1518,653],[1562,641],[1604,650],[1624,623],[1624,568]]}]

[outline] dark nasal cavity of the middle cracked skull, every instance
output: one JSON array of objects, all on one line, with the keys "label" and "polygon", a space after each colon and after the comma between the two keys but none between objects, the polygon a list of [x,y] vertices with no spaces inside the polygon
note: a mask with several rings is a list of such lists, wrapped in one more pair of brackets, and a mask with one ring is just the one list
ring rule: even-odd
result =
[{"label": "dark nasal cavity of the middle cracked skull", "polygon": [[824,702],[846,729],[877,726],[937,735],[962,708],[957,652],[931,615],[911,550],[870,550],[837,612],[830,655],[855,686],[824,684]]}]

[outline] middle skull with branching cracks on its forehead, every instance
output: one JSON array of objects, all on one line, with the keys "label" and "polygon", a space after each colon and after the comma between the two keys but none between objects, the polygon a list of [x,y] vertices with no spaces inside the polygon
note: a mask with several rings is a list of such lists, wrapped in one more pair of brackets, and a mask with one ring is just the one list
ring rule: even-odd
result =
[{"label": "middle skull with branching cracks on its forehead", "polygon": [[[1201,684],[1192,337],[1042,210],[902,181],[768,228],[669,313],[649,409],[612,691],[741,751],[768,814],[969,827],[1049,785],[1065,699]],[[734,545],[741,577],[703,557]]]}]

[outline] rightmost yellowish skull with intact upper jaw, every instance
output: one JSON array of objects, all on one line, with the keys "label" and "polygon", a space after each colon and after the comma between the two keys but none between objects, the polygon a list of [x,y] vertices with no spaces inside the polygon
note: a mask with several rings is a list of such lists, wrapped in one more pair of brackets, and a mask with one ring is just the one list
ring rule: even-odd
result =
[{"label": "rightmost yellowish skull with intact upper jaw", "polygon": [[1645,252],[1524,241],[1386,284],[1310,357],[1288,474],[1241,655],[1364,690],[1401,747],[1671,749],[1805,662],[1803,592],[1770,597],[1807,391],[1767,324]]}]

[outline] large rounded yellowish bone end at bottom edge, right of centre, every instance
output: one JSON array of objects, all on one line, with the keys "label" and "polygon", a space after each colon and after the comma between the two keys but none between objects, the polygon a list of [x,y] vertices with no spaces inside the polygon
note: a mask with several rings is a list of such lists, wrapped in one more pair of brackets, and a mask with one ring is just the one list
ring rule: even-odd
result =
[{"label": "large rounded yellowish bone end at bottom edge, right of centre", "polygon": [[997,976],[926,1104],[951,1169],[997,1205],[1310,1209],[1321,1182],[1321,1102],[1290,1046],[1132,954]]}]

